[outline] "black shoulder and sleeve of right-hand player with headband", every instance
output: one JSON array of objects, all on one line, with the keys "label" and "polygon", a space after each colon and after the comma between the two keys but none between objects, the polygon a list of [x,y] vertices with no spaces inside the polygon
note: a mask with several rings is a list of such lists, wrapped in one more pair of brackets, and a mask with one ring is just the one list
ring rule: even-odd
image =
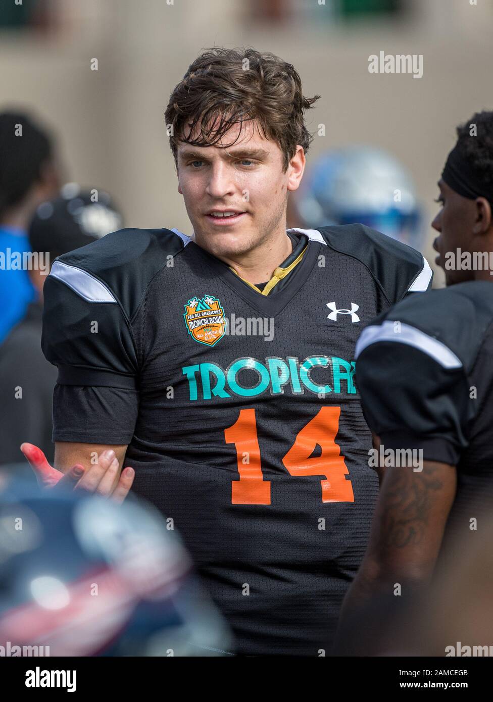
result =
[{"label": "black shoulder and sleeve of right-hand player with headband", "polygon": [[471,373],[493,319],[489,285],[407,297],[362,331],[355,383],[369,428],[386,449],[459,461],[480,406]]}]

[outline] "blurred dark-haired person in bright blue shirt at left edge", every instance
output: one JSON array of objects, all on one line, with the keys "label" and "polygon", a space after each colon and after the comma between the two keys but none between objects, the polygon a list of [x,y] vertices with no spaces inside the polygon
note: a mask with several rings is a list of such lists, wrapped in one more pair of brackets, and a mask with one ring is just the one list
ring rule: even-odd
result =
[{"label": "blurred dark-haired person in bright blue shirt at left edge", "polygon": [[51,135],[27,114],[0,114],[0,343],[36,297],[19,255],[37,206],[55,197],[59,168]]}]

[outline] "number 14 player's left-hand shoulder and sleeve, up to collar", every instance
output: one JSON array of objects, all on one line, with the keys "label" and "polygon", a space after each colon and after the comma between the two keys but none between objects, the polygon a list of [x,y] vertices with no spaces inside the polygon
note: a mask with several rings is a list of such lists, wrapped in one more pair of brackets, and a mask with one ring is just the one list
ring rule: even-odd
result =
[{"label": "number 14 player's left-hand shoulder and sleeve, up to collar", "polygon": [[132,322],[152,279],[189,241],[178,230],[124,229],[55,260],[41,341],[58,366],[53,441],[129,444],[143,353]]}]

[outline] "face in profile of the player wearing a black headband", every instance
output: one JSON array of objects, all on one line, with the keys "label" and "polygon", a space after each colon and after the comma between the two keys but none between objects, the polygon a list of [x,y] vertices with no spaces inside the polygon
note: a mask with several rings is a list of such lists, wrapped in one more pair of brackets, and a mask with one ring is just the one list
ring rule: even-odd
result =
[{"label": "face in profile of the player wearing a black headband", "polygon": [[438,187],[440,196],[437,201],[442,208],[431,223],[433,229],[440,232],[440,236],[433,242],[433,249],[438,251],[435,262],[445,270],[446,284],[454,285],[473,279],[472,270],[460,270],[457,266],[458,270],[446,270],[445,256],[447,251],[452,251],[455,256],[456,249],[473,253],[476,207],[474,200],[462,197],[441,179]]}]

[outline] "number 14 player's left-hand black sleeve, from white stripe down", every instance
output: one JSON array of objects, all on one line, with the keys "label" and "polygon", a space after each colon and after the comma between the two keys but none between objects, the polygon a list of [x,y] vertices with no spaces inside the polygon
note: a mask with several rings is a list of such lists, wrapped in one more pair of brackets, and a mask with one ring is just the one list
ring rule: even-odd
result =
[{"label": "number 14 player's left-hand black sleeve, from white stripe down", "polygon": [[110,289],[55,261],[44,286],[44,355],[58,366],[53,441],[128,444],[138,412],[129,320]]}]

